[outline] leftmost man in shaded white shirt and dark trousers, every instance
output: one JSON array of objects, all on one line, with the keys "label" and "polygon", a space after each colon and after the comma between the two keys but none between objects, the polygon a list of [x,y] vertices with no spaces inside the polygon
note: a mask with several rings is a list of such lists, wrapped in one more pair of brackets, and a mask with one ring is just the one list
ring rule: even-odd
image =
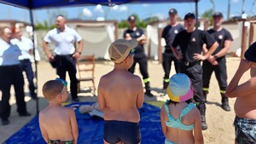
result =
[{"label": "leftmost man in shaded white shirt and dark trousers", "polygon": [[12,32],[9,27],[4,27],[0,30],[0,90],[2,91],[2,100],[0,103],[0,117],[2,124],[9,124],[9,115],[11,107],[9,105],[10,88],[14,85],[15,98],[17,104],[17,112],[20,117],[31,116],[31,113],[26,111],[26,102],[24,101],[24,79],[20,69],[21,55],[19,47],[10,43]]}]

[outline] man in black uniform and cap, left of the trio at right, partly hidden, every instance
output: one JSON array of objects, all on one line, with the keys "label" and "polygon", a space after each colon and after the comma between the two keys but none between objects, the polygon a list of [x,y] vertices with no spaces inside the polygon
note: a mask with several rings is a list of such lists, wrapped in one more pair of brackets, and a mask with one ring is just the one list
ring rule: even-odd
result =
[{"label": "man in black uniform and cap, left of the trio at right, partly hidden", "polygon": [[163,30],[162,37],[166,40],[165,52],[163,53],[162,66],[165,71],[163,89],[166,89],[169,85],[169,75],[171,71],[172,61],[174,62],[176,73],[180,72],[180,61],[172,54],[172,42],[178,32],[185,30],[185,27],[177,23],[177,10],[169,10],[170,24]]}]

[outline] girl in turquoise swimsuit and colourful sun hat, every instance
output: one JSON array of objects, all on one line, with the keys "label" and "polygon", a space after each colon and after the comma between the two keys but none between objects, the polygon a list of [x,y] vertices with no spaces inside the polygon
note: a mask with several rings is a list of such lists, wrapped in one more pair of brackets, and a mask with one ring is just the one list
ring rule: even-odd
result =
[{"label": "girl in turquoise swimsuit and colourful sun hat", "polygon": [[193,89],[189,77],[183,73],[174,74],[170,78],[166,92],[170,100],[166,101],[160,111],[161,127],[166,136],[165,144],[204,143],[201,114],[190,101]]}]

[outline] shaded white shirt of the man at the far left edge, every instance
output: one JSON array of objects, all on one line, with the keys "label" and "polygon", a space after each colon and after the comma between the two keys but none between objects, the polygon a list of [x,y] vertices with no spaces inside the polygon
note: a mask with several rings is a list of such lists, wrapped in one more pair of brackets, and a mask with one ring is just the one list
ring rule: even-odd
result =
[{"label": "shaded white shirt of the man at the far left edge", "polygon": [[0,38],[0,66],[13,66],[20,64],[18,57],[21,55],[18,45],[6,43]]}]

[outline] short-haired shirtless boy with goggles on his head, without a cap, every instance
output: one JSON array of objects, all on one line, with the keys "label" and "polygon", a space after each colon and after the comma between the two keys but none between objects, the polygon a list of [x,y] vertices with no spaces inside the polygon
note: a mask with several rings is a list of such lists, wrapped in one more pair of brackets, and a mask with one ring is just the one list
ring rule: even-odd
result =
[{"label": "short-haired shirtless boy with goggles on his head, without a cap", "polygon": [[67,101],[67,82],[61,78],[43,86],[43,95],[49,106],[39,112],[39,126],[48,144],[77,144],[79,130],[73,108],[62,107]]}]

